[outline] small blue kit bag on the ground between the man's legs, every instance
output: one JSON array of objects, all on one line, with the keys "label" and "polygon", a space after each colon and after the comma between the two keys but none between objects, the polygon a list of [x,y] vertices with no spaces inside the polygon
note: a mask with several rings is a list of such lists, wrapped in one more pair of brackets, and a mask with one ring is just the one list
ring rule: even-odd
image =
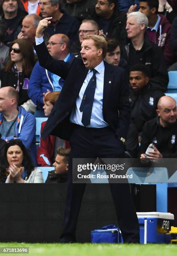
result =
[{"label": "small blue kit bag on the ground between the man's legs", "polygon": [[123,243],[120,228],[115,225],[107,225],[91,231],[92,243]]}]

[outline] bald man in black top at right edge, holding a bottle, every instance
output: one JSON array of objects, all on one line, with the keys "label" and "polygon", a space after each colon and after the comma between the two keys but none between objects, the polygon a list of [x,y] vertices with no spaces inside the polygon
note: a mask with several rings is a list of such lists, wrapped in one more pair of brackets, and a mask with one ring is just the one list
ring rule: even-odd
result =
[{"label": "bald man in black top at right edge, holding a bottle", "polygon": [[[177,157],[177,102],[169,96],[160,98],[157,104],[157,118],[145,123],[140,146],[141,158],[176,158]],[[153,143],[154,152],[146,149]]]}]

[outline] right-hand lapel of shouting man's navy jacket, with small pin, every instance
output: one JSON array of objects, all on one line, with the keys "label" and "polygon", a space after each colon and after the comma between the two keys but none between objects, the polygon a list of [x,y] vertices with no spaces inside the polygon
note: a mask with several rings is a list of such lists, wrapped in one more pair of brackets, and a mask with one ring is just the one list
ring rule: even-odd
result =
[{"label": "right-hand lapel of shouting man's navy jacket, with small pin", "polygon": [[110,91],[113,84],[112,65],[107,64],[105,61],[104,61],[104,64],[105,64],[105,74],[104,74],[103,104],[102,104],[103,113],[104,113],[104,110],[106,109],[107,101],[109,99]]}]

